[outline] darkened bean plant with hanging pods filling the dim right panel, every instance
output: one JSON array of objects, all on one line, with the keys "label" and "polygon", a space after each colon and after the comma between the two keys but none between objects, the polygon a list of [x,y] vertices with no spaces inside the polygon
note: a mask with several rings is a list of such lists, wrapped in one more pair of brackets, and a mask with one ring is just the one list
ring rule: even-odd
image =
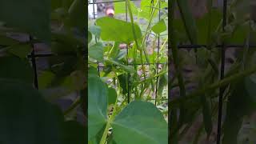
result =
[{"label": "darkened bean plant with hanging pods filling the dim right panel", "polygon": [[[170,143],[215,143],[217,128],[223,144],[254,143],[250,134],[255,129],[242,134],[246,123],[250,127],[255,123],[248,123],[256,106],[253,1],[230,1],[226,20],[223,7],[214,7],[212,0],[202,18],[194,18],[186,0],[172,0],[169,5],[169,62],[174,67],[169,80]],[[188,44],[194,49],[179,49]],[[227,59],[230,55],[234,62]],[[189,76],[185,69],[192,71]]]}]

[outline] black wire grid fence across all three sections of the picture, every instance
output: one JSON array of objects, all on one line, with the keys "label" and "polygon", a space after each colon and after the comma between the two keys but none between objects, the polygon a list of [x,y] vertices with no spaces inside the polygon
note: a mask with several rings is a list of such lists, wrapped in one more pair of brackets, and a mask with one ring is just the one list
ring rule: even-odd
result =
[{"label": "black wire grid fence across all three sections of the picture", "polygon": [[[94,2],[95,0],[93,0],[93,2],[88,2],[88,6],[89,5],[96,5],[99,3],[109,3],[109,2]],[[131,0],[131,1],[139,1],[139,0]],[[119,0],[119,1],[112,1],[112,2],[126,2],[126,0]],[[94,6],[93,6],[94,7]],[[222,9],[222,18],[223,18],[223,22],[222,22],[222,31],[225,32],[225,26],[226,26],[226,14],[227,14],[227,0],[223,0],[223,9]],[[94,13],[94,19],[95,19],[95,13]],[[159,20],[160,20],[160,12],[159,12]],[[127,7],[126,7],[126,22],[128,22],[128,14],[127,14]],[[30,42],[33,40],[33,38],[30,36]],[[35,54],[34,53],[34,44],[31,42],[30,44],[32,46],[32,52],[30,55],[28,55],[28,58],[30,58],[33,69],[34,69],[34,86],[38,89],[38,71],[37,71],[37,65],[36,65],[36,58],[42,58],[42,57],[51,57],[51,56],[56,56],[56,54]],[[220,79],[223,78],[223,74],[224,74],[224,70],[225,70],[225,50],[226,48],[242,48],[244,45],[226,45],[226,43],[222,43],[222,45],[216,45],[213,46],[215,48],[220,48],[222,49],[222,64],[221,64],[221,77]],[[249,48],[256,48],[256,45],[249,45]],[[206,45],[178,45],[179,49],[194,49],[194,48],[206,48]],[[169,48],[170,49],[170,48]],[[128,49],[127,53],[128,53]],[[159,50],[159,38],[158,38],[158,50]],[[158,51],[159,52],[159,51]],[[158,53],[159,54],[159,53]],[[70,55],[70,54],[67,54]],[[159,55],[158,55],[159,56]],[[169,55],[170,56],[170,55]],[[159,64],[164,64],[164,63],[144,63],[144,64],[138,64],[138,65],[150,65],[150,64],[156,64],[156,66],[158,66]],[[130,63],[127,63],[127,65],[131,65]],[[99,68],[102,66],[98,66],[98,70]],[[158,70],[158,69],[157,69]],[[128,76],[129,79],[129,76]],[[130,83],[130,81],[129,81]],[[157,84],[158,84],[158,78],[157,78]],[[156,86],[157,89],[157,86]],[[156,90],[157,91],[157,90]],[[217,134],[217,144],[219,144],[221,142],[221,135],[222,135],[222,96],[224,94],[224,90],[221,87],[220,88],[220,93],[219,93],[219,104],[218,104],[218,134]],[[128,89],[129,92],[129,89]],[[156,94],[157,96],[157,94]],[[128,102],[130,102],[130,94],[128,93]],[[156,102],[156,98],[154,99]]]}]

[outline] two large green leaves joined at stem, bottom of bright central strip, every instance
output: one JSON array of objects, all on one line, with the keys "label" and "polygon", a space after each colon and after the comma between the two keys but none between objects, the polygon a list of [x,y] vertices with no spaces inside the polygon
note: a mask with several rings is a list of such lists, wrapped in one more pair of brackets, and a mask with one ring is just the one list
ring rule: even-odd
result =
[{"label": "two large green leaves joined at stem, bottom of bright central strip", "polygon": [[[112,122],[106,118],[110,94],[98,76],[89,79],[89,140],[93,140],[108,123],[113,126],[113,141],[122,143],[167,143],[167,124],[161,112],[150,102],[131,102]],[[110,92],[110,94],[108,94]],[[109,95],[109,96],[107,96]],[[110,99],[110,101],[112,101]],[[139,109],[139,110],[138,110]],[[112,115],[114,117],[115,114]],[[107,128],[106,128],[107,129]],[[132,136],[123,137],[124,134]],[[91,141],[92,142],[92,141]]]}]

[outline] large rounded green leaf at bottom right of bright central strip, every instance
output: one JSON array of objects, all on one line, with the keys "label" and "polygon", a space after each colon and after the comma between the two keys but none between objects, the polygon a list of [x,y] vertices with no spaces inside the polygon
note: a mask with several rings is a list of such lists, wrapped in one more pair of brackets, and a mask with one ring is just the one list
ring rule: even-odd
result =
[{"label": "large rounded green leaf at bottom right of bright central strip", "polygon": [[160,110],[150,102],[130,102],[114,119],[112,126],[113,139],[117,143],[168,143],[167,123]]}]

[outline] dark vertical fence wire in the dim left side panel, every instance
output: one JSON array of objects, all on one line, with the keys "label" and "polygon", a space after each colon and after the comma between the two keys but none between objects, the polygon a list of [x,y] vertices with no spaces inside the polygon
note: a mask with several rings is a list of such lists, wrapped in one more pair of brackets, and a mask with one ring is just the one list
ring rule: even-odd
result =
[{"label": "dark vertical fence wire in the dim left side panel", "polygon": [[30,46],[32,46],[32,52],[31,52],[31,62],[34,69],[34,87],[38,89],[38,70],[37,70],[37,64],[34,57],[34,44],[31,42],[33,40],[32,36],[30,36]]}]

